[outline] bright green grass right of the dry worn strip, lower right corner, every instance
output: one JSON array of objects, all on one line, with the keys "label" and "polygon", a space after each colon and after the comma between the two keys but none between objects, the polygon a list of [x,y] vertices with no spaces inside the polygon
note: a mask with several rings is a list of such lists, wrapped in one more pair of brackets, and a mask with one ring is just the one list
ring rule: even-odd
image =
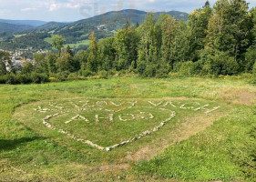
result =
[{"label": "bright green grass right of the dry worn strip, lower right corner", "polygon": [[141,162],[136,168],[161,177],[184,180],[254,181],[254,112],[239,106],[204,132],[167,148],[158,157]]}]

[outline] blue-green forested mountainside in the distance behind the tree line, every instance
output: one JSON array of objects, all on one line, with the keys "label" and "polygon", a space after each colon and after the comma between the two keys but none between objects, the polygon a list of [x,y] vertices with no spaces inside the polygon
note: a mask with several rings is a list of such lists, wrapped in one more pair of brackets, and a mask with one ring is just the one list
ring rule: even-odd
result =
[{"label": "blue-green forested mountainside in the distance behind the tree line", "polygon": [[[186,13],[178,11],[162,13],[172,15],[176,19],[183,19],[185,21],[188,20],[188,14]],[[158,17],[160,14],[161,13],[155,13],[156,17]],[[131,25],[141,25],[145,21],[145,15],[147,15],[147,12],[128,9],[108,12],[103,15],[97,15],[73,23],[50,22],[45,25],[23,29],[23,31],[18,31],[14,35],[0,35],[0,37],[2,37],[4,40],[0,45],[0,48],[5,50],[13,50],[17,48],[24,48],[24,46],[27,45],[27,47],[37,49],[39,46],[37,44],[33,45],[33,42],[30,42],[29,38],[27,37],[30,35],[33,36],[35,33],[47,33],[48,37],[51,37],[51,35],[63,35],[66,38],[66,44],[77,45],[77,49],[86,49],[87,45],[81,45],[81,42],[87,42],[88,36],[92,31],[94,31],[97,35],[97,39],[113,36],[118,29],[123,28],[127,21]],[[20,39],[19,36],[25,36],[23,39],[27,40],[23,44],[17,44],[20,41],[16,40],[16,36],[18,36],[18,39]],[[37,38],[37,42],[42,43],[42,41],[46,41],[46,39],[41,39],[40,37],[41,36]],[[40,47],[50,49],[46,43],[42,43],[42,46]]]}]

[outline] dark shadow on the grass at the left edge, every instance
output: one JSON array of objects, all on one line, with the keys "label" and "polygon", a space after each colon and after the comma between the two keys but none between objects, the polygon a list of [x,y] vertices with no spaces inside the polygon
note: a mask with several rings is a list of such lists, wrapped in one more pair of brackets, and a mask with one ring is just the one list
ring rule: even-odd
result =
[{"label": "dark shadow on the grass at the left edge", "polygon": [[14,140],[0,139],[0,152],[3,150],[15,149],[15,147],[19,147],[22,144],[25,144],[27,142],[32,142],[37,139],[44,139],[44,138],[35,136],[35,137],[21,137]]}]

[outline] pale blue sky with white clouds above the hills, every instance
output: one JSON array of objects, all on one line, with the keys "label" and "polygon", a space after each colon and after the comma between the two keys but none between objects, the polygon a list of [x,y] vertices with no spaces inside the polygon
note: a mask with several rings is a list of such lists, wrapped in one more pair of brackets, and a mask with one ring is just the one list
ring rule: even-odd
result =
[{"label": "pale blue sky with white clouds above the hills", "polygon": [[[30,19],[70,22],[112,10],[179,10],[191,12],[206,0],[0,0],[0,19]],[[210,0],[211,5],[216,0]],[[248,0],[250,6],[256,0]]]}]

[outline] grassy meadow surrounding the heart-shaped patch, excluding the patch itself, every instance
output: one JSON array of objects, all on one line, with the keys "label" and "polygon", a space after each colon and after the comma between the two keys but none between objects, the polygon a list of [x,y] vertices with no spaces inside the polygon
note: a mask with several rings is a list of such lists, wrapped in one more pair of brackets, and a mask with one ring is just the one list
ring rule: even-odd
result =
[{"label": "grassy meadow surrounding the heart-shaped patch, excluding the patch itself", "polygon": [[[1,85],[0,181],[163,181],[169,177],[192,181],[253,181],[255,106],[246,96],[253,100],[255,92],[255,86],[247,84],[246,80],[208,78],[113,78],[45,85]],[[41,100],[181,96],[224,102],[229,106],[227,113],[230,108],[233,110],[200,134],[169,147],[149,162],[139,162],[138,166],[125,157],[128,151],[136,152],[141,145],[152,144],[149,137],[139,145],[134,143],[113,153],[101,154],[95,149],[84,153],[79,151],[83,147],[79,148],[78,144],[73,144],[75,148],[60,145],[55,139],[42,136],[12,118],[16,106]],[[162,132],[156,137],[168,135],[168,131]],[[135,170],[123,170],[126,167],[118,168],[118,164],[136,167]],[[109,167],[112,169],[108,170]]]}]

